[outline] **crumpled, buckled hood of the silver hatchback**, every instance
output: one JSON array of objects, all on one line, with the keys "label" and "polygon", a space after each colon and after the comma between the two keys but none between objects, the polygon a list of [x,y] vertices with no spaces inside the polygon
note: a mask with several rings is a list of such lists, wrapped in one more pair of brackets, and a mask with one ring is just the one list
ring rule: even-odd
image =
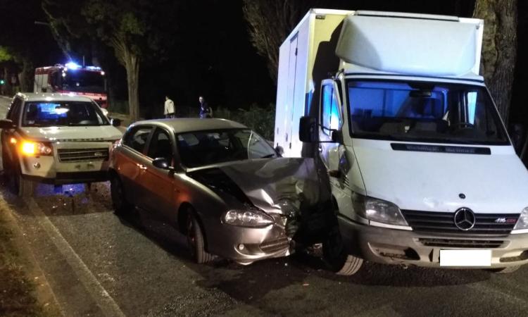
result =
[{"label": "crumpled, buckled hood of the silver hatchback", "polygon": [[242,203],[268,213],[289,213],[292,207],[298,209],[301,201],[315,205],[325,188],[319,184],[313,159],[237,161],[187,174],[215,192],[229,192]]}]

